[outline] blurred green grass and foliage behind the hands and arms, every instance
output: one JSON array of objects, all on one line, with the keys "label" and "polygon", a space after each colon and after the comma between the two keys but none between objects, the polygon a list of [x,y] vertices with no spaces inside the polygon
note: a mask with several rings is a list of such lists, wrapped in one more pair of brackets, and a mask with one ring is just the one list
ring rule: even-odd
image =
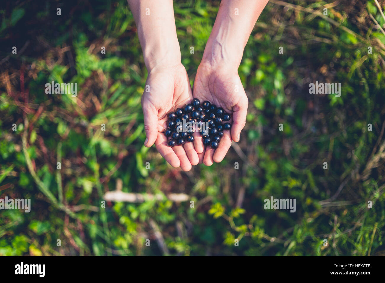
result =
[{"label": "blurred green grass and foliage behind the hands and arms", "polygon": [[[174,1],[191,84],[218,7]],[[3,1],[0,15],[0,198],[32,203],[0,210],[0,255],[385,255],[376,1],[271,0],[239,67],[240,142],[189,172],[143,146],[147,71],[125,0]],[[77,97],[45,94],[52,80],[77,83]],[[316,80],[340,83],[341,96],[309,94]],[[115,190],[137,202],[104,208]],[[296,212],[265,210],[271,196],[295,198]]]}]

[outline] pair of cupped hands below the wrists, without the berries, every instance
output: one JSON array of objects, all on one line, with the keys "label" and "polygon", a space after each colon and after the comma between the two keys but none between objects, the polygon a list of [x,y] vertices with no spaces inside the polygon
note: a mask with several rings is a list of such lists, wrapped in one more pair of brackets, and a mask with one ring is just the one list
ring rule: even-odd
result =
[{"label": "pair of cupped hands below the wrists, without the berries", "polygon": [[[142,96],[146,131],[144,145],[151,147],[155,144],[157,151],[171,166],[180,166],[183,171],[189,171],[199,163],[211,166],[213,162],[223,160],[232,141],[239,141],[246,122],[248,99],[237,68],[231,68],[226,63],[201,62],[191,89],[186,69],[181,63],[162,64],[149,70],[147,85],[149,92],[145,90]],[[193,142],[167,146],[167,137],[163,133],[167,128],[167,114],[178,107],[183,108],[194,98],[201,103],[208,100],[231,115],[231,130],[224,131],[216,149],[204,146],[199,132],[194,132]]]}]

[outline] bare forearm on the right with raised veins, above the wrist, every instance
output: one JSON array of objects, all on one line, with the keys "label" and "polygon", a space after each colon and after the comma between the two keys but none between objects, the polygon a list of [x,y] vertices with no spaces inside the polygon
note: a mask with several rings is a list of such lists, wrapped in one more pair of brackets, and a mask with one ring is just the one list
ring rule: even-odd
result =
[{"label": "bare forearm on the right with raised veins, above the wrist", "polygon": [[250,33],[267,2],[222,0],[202,61],[238,69]]}]

